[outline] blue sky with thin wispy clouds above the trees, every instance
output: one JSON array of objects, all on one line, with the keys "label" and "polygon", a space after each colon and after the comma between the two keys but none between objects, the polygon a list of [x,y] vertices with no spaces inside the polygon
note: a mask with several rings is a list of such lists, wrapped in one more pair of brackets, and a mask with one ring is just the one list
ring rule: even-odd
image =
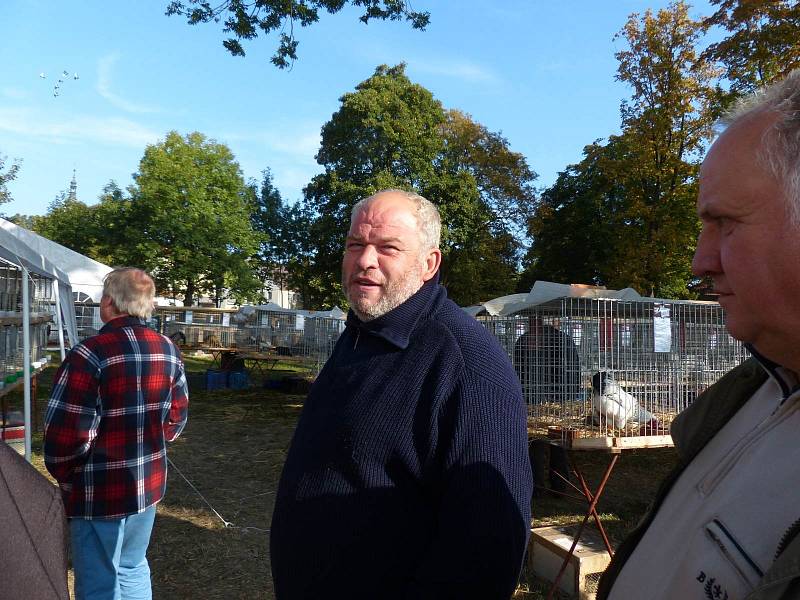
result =
[{"label": "blue sky with thin wispy clouds above the trees", "polygon": [[275,37],[233,57],[220,27],[166,17],[166,4],[3,0],[0,154],[22,162],[0,211],[44,214],[73,169],[78,198],[93,204],[109,180],[129,185],[145,146],[173,129],[227,144],[246,178],[269,167],[294,201],[320,171],[319,132],[339,97],[402,61],[446,108],[502,132],[546,186],[586,144],[618,131],[628,90],[614,80],[624,47],[614,34],[630,13],[667,2],[413,0],[431,13],[424,32],[365,26],[346,9],[296,30],[299,60],[285,71],[269,62]]}]

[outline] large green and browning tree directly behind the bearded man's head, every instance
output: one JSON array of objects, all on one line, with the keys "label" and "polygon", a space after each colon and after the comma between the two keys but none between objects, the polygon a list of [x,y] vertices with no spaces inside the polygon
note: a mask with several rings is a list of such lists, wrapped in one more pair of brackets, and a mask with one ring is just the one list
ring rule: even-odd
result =
[{"label": "large green and browning tree directly behind the bearded man's head", "polygon": [[437,204],[442,282],[457,302],[471,304],[513,289],[516,245],[509,224],[531,202],[535,174],[502,136],[463,113],[446,111],[430,91],[411,82],[405,65],[380,66],[342,96],[322,129],[317,161],[325,170],[304,190],[314,215],[316,247],[307,286],[316,305],[343,302],[333,274],[340,269],[350,211],[359,199],[385,188],[414,189]]}]

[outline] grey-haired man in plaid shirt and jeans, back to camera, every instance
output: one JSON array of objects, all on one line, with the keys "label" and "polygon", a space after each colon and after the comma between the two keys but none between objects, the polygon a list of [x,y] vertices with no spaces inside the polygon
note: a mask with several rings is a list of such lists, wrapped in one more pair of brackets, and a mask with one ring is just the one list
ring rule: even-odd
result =
[{"label": "grey-haired man in plaid shirt and jeans, back to camera", "polygon": [[183,430],[189,402],[179,350],[144,324],[154,296],[144,271],[110,272],[105,325],[72,348],[53,383],[45,463],[69,517],[78,600],[152,597],[146,552],[166,442]]}]

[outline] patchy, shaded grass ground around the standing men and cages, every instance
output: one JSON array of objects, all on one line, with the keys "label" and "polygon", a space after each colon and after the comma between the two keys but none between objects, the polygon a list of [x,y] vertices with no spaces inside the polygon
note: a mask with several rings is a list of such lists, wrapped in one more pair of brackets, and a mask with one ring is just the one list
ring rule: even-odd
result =
[{"label": "patchy, shaded grass ground around the standing men and cages", "polygon": [[[186,366],[189,423],[169,447],[173,465],[148,550],[154,598],[272,599],[268,530],[303,397],[262,389],[260,380],[245,390],[208,391],[204,375],[210,361],[187,356]],[[295,368],[279,364],[268,376],[280,377]],[[39,423],[54,373],[51,367],[39,377]],[[9,398],[12,408],[21,405],[21,394]],[[40,429],[33,436],[33,464],[46,473],[41,448]],[[609,455],[580,452],[572,460],[594,489]],[[598,506],[612,541],[619,541],[639,520],[674,462],[671,449],[622,455]],[[534,499],[533,525],[580,523],[585,508],[585,502],[543,494]],[[543,600],[548,590],[545,582],[523,573],[514,598]]]}]

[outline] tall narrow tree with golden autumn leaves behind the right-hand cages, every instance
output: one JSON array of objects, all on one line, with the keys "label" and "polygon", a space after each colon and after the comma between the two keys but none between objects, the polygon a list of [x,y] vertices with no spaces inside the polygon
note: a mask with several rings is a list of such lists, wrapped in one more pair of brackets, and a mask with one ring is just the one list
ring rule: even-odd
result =
[{"label": "tall narrow tree with golden autumn leaves behind the right-hand cages", "polygon": [[702,34],[684,2],[641,18],[620,32],[617,79],[633,95],[621,107],[627,148],[625,221],[613,283],[643,293],[685,296],[699,232],[696,177],[712,134],[718,71],[698,56]]}]

